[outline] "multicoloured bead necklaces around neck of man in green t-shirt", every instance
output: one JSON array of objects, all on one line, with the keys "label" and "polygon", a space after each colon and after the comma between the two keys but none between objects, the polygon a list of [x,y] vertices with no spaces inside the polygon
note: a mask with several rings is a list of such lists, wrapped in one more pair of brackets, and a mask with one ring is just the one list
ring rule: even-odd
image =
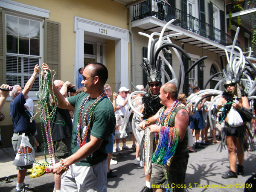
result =
[{"label": "multicoloured bead necklaces around neck of man in green t-shirt", "polygon": [[[82,116],[82,113],[84,111],[84,106],[90,100],[90,98],[91,98],[90,95],[85,97],[84,100],[81,102],[81,105],[79,107],[79,112],[78,112],[79,116],[78,116],[78,124],[77,124],[77,131],[76,131],[76,139],[77,139],[77,143],[79,144],[80,147],[82,147],[86,143],[87,133],[88,133],[89,128],[90,128],[90,123],[91,123],[91,119],[92,119],[92,116],[93,116],[94,109],[99,104],[99,102],[101,102],[103,99],[108,98],[108,97],[107,97],[107,92],[104,90],[103,93],[92,104],[90,104],[86,108],[86,110],[84,112],[84,115]],[[81,134],[80,134],[81,126],[83,126],[82,137],[81,137]]]}]

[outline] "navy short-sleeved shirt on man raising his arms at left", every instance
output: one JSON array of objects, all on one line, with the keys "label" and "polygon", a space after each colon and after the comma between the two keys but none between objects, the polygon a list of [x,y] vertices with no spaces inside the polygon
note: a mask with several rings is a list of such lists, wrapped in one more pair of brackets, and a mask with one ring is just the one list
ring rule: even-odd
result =
[{"label": "navy short-sleeved shirt on man raising his arms at left", "polygon": [[30,122],[30,113],[24,104],[26,99],[21,92],[13,101],[10,102],[10,115],[15,133],[32,133],[36,131],[35,120]]}]

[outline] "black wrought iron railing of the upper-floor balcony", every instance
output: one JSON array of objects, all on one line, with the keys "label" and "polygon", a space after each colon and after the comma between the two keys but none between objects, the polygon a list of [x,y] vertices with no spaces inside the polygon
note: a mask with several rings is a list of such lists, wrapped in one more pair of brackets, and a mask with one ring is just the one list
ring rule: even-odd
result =
[{"label": "black wrought iron railing of the upper-floor balcony", "polygon": [[[169,6],[163,2],[157,2],[157,0],[147,0],[134,6],[134,20],[140,20],[145,17],[155,17],[166,22],[175,19],[175,22],[172,23],[173,25],[208,38],[211,41],[224,46],[232,45],[233,43],[234,38],[222,32],[220,29],[173,6]],[[236,44],[239,46],[240,42],[237,41]]]}]

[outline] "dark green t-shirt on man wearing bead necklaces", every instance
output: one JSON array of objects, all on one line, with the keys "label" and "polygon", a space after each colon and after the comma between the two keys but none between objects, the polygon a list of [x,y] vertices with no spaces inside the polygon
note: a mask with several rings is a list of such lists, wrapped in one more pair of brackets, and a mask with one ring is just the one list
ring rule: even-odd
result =
[{"label": "dark green t-shirt on man wearing bead necklaces", "polygon": [[[78,124],[78,116],[79,116],[79,107],[87,97],[87,93],[80,93],[76,96],[68,97],[67,100],[70,102],[71,105],[75,107],[74,111],[74,122],[73,122],[73,130],[72,130],[72,143],[71,143],[71,150],[70,155],[76,153],[76,151],[80,148],[79,144],[76,140],[76,131],[77,131],[77,124]],[[82,117],[84,115],[84,111],[86,108],[92,104],[96,98],[90,98],[89,101],[84,106],[84,110],[82,113]],[[84,123],[84,122],[83,122]],[[108,153],[106,150],[106,146],[109,142],[109,137],[114,132],[116,126],[116,117],[113,109],[113,105],[108,98],[103,99],[93,111],[93,116],[90,123],[90,128],[87,133],[86,143],[90,141],[90,136],[96,137],[98,139],[103,139],[100,148],[93,152],[89,157],[81,160],[80,162],[76,163],[79,166],[92,166],[97,163],[102,162],[108,157]],[[83,126],[81,126],[81,131],[83,131]]]}]

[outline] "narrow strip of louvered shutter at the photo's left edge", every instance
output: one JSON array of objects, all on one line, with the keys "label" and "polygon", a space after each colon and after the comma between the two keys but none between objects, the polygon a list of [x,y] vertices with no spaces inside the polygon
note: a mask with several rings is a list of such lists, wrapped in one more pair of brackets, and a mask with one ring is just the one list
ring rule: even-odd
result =
[{"label": "narrow strip of louvered shutter at the photo's left edge", "polygon": [[5,11],[0,9],[0,85],[6,84]]}]

